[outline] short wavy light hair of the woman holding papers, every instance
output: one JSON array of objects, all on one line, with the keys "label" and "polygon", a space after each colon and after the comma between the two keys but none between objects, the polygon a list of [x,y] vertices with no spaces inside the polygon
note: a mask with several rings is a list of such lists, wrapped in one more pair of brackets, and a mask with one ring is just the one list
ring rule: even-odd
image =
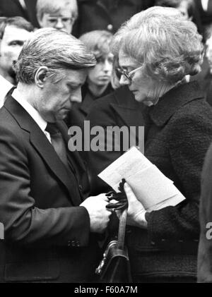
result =
[{"label": "short wavy light hair of the woman holding papers", "polygon": [[177,9],[155,6],[126,22],[112,48],[114,54],[122,50],[143,64],[143,73],[151,78],[173,84],[201,70],[201,40],[196,25],[184,20]]}]

